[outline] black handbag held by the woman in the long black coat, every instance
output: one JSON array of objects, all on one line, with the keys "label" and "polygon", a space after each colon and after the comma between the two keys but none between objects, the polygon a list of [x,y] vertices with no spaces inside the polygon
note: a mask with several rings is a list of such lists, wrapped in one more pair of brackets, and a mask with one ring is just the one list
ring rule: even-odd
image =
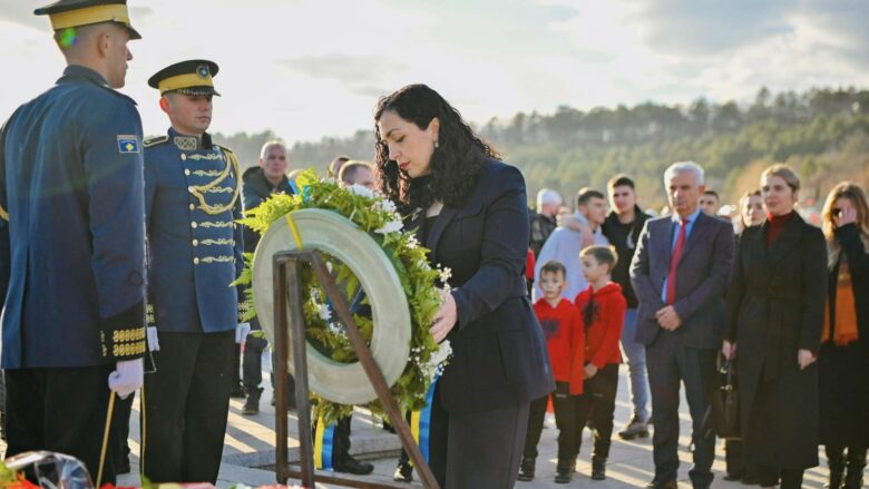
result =
[{"label": "black handbag held by the woman in the long black coat", "polygon": [[740,433],[740,392],[736,383],[736,365],[731,360],[721,361],[715,378],[717,380],[711,393],[710,404],[703,420],[707,434],[714,431],[719,438],[734,440]]}]

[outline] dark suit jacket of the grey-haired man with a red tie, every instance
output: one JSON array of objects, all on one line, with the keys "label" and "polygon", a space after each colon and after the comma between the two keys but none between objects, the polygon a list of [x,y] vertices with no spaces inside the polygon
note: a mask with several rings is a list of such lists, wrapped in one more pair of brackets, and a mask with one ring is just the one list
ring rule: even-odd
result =
[{"label": "dark suit jacket of the grey-haired man with a red tie", "polygon": [[[664,307],[661,293],[670,273],[676,225],[671,217],[646,222],[631,263],[631,282],[639,300],[636,341],[650,345],[661,325],[655,313]],[[676,303],[685,346],[721,348],[724,292],[733,264],[733,226],[700,213],[676,268]]]}]

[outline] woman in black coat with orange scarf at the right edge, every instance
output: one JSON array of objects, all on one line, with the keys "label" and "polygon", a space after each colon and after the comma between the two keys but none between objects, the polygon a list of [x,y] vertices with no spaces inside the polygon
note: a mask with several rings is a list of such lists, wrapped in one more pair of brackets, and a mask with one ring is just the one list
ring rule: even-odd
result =
[{"label": "woman in black coat with orange scarf at the right edge", "polygon": [[848,182],[837,185],[827,197],[822,216],[830,250],[830,280],[818,362],[821,443],[830,466],[829,487],[851,489],[862,487],[869,446],[869,205],[866,192]]}]

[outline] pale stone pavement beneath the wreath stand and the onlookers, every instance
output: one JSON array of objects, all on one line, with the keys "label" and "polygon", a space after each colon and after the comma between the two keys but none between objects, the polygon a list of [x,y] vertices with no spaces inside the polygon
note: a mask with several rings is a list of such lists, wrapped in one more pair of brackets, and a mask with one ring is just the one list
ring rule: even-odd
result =
[{"label": "pale stone pavement beneath the wreath stand and the onlookers", "polygon": [[[267,359],[264,359],[267,360]],[[264,361],[263,365],[271,365],[271,362]],[[267,373],[267,372],[264,372]],[[243,482],[250,486],[271,485],[275,483],[275,476],[273,470],[268,470],[274,466],[274,408],[270,405],[272,397],[271,387],[267,385],[267,375],[263,375],[266,379],[266,391],[263,393],[261,401],[261,412],[257,415],[245,417],[241,414],[243,399],[233,399],[230,408],[230,423],[225,438],[223,463],[221,466],[218,487],[230,487],[236,482]],[[627,369],[623,365],[619,375],[619,392],[616,405],[616,427],[615,431],[621,430],[627,419],[629,418],[629,402],[627,394]],[[121,476],[118,483],[121,486],[140,486],[138,475],[138,457],[139,451],[139,428],[138,428],[138,401],[134,402],[134,414],[130,420],[130,440],[129,446],[131,452],[133,473]],[[296,418],[294,413],[290,417],[290,458],[291,461],[297,460],[297,439],[295,422]],[[682,401],[682,409],[680,413],[682,420],[682,436],[680,438],[680,459],[682,466],[680,467],[680,481],[678,485],[682,488],[691,487],[691,482],[687,477],[687,470],[691,466],[691,453],[687,451],[690,442],[690,426],[691,419],[687,413],[687,404]],[[390,481],[391,475],[396,468],[397,453],[400,448],[398,437],[388,433],[382,430],[378,420],[372,420],[370,414],[364,410],[357,410],[353,417],[352,424],[353,436],[351,450],[360,459],[367,459],[374,463],[374,475],[368,476],[365,480],[379,480]],[[569,485],[555,485],[553,478],[555,476],[555,462],[556,462],[556,436],[554,422],[550,418],[547,419],[546,429],[544,430],[539,451],[540,456],[537,459],[537,478],[531,482],[517,482],[516,489],[539,489],[539,488],[570,488],[570,487],[584,487],[593,489],[609,489],[609,488],[626,488],[626,487],[643,487],[650,480],[654,472],[652,463],[652,442],[651,439],[641,439],[635,441],[623,441],[614,434],[613,446],[611,450],[609,460],[607,463],[607,480],[605,481],[592,481],[588,475],[590,473],[589,461],[589,448],[592,446],[590,438],[586,431],[585,441],[583,443],[583,450],[579,454],[577,462],[577,473],[573,482]],[[6,449],[6,447],[0,447]],[[724,450],[720,442],[716,450],[716,459],[713,470],[715,471],[715,481],[712,487],[714,489],[724,488],[743,488],[740,483],[726,482],[722,480],[724,472]],[[808,470],[805,473],[805,480],[803,487],[808,488],[821,488],[827,478],[826,461],[821,460],[821,467]],[[867,473],[869,479],[869,471]],[[292,481],[291,481],[292,483]],[[419,483],[413,485],[399,485],[398,487],[419,488]],[[322,488],[335,488],[334,485],[319,485]]]}]

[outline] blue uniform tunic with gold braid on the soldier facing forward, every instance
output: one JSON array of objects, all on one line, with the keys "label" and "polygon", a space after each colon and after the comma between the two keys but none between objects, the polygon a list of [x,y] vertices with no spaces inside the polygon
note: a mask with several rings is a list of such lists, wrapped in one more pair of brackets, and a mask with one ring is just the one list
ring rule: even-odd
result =
[{"label": "blue uniform tunic with gold braid on the soldier facing forward", "polygon": [[[230,284],[244,270],[244,239],[232,158],[207,134],[199,140],[170,128],[145,141],[148,299],[160,333],[215,333],[240,322],[243,302]],[[213,214],[214,206],[230,208]]]}]

